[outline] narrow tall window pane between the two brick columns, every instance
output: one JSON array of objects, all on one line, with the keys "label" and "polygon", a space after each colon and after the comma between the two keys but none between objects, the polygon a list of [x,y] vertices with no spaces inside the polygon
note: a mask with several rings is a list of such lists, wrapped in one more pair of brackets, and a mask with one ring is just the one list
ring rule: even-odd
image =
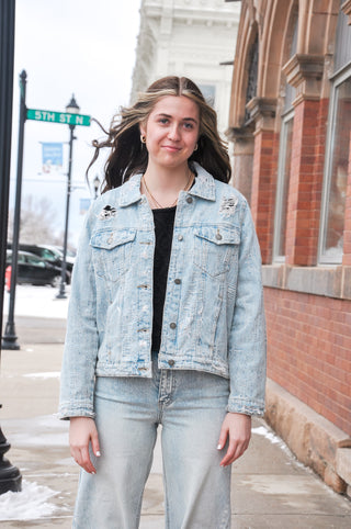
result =
[{"label": "narrow tall window pane between the two brick columns", "polygon": [[274,261],[284,261],[285,259],[287,193],[292,161],[293,125],[294,112],[290,111],[282,117],[282,130],[280,135],[273,241]]}]

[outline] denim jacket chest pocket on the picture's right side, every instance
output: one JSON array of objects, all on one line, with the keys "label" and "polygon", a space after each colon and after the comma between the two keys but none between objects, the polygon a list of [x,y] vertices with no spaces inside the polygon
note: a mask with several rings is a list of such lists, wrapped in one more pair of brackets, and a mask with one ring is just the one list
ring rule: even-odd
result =
[{"label": "denim jacket chest pocket on the picture's right side", "polygon": [[240,245],[238,228],[200,226],[194,234],[194,263],[201,270],[216,277],[237,264]]}]

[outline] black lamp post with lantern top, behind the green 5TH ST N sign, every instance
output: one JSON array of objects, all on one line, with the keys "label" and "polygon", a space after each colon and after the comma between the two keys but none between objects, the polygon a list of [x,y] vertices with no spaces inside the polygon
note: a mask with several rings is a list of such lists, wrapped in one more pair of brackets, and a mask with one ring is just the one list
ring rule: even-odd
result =
[{"label": "black lamp post with lantern top, behind the green 5TH ST N sign", "polygon": [[[80,108],[77,104],[75,99],[75,94],[72,94],[70,102],[66,106],[66,112],[69,114],[79,114]],[[69,157],[68,157],[68,173],[67,173],[67,194],[66,194],[66,222],[65,222],[65,240],[64,240],[64,257],[63,257],[63,266],[61,266],[61,281],[59,285],[59,292],[57,294],[58,300],[63,300],[67,297],[66,295],[66,273],[67,273],[67,238],[68,238],[68,220],[69,220],[69,200],[71,193],[71,171],[72,171],[72,150],[73,150],[73,139],[76,136],[73,135],[76,125],[68,125],[69,126]]]}]

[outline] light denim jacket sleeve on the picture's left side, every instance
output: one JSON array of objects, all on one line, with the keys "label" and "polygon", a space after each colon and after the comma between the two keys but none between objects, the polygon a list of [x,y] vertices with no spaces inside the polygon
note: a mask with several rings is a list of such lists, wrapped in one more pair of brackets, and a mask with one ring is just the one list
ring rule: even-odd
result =
[{"label": "light denim jacket sleeve on the picture's left side", "polygon": [[93,205],[87,214],[72,272],[60,379],[58,417],[94,417],[93,390],[98,357],[97,291],[91,259]]}]

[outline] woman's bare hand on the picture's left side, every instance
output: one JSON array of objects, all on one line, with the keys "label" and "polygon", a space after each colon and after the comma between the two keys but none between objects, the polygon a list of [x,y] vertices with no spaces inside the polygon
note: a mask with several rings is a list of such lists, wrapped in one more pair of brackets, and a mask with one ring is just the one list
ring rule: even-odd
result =
[{"label": "woman's bare hand on the picture's left side", "polygon": [[100,457],[99,437],[95,421],[90,417],[71,417],[69,425],[69,446],[71,457],[89,474],[97,470],[89,455],[89,443],[97,458]]}]

